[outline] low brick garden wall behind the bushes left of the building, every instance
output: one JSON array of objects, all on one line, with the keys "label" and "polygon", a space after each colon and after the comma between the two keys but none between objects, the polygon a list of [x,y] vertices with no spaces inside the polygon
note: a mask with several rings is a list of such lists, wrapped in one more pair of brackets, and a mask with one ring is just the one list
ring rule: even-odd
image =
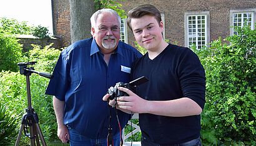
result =
[{"label": "low brick garden wall behind the bushes left of the building", "polygon": [[17,35],[17,39],[19,39],[19,43],[21,43],[23,46],[23,52],[27,52],[28,50],[31,50],[33,47],[31,44],[40,45],[41,48],[43,48],[46,45],[49,45],[51,43],[53,48],[61,48],[61,40],[52,38],[52,39],[39,39],[37,37],[34,37],[32,35]]}]

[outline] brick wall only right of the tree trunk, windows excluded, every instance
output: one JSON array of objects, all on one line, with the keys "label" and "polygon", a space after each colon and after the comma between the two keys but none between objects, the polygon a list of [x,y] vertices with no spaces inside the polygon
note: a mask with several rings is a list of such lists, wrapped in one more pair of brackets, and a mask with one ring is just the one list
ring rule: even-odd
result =
[{"label": "brick wall only right of the tree trunk, windows excluded", "polygon": [[[210,12],[210,41],[230,35],[230,9],[249,9],[256,7],[255,0],[126,0],[121,1],[126,12],[140,4],[153,4],[165,16],[165,39],[184,46],[184,14],[192,11]],[[134,45],[132,32],[128,31],[129,44]]]}]

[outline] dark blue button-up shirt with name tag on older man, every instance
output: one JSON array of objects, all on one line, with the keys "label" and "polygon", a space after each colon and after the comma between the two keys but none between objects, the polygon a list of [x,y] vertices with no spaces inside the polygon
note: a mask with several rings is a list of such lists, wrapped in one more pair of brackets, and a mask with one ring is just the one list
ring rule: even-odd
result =
[{"label": "dark blue button-up shirt with name tag on older man", "polygon": [[[131,63],[142,55],[130,45],[119,42],[109,65],[94,39],[73,43],[61,52],[46,94],[65,101],[64,124],[91,139],[107,137],[110,111],[102,97],[107,89],[122,81],[130,81]],[[117,111],[121,128],[129,114]],[[113,134],[119,132],[116,112],[111,109]]]}]

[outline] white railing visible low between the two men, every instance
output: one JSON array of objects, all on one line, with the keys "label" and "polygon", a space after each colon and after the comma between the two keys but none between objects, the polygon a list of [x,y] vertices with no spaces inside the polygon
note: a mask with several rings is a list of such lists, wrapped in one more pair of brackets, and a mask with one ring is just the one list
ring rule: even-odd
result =
[{"label": "white railing visible low between the two men", "polygon": [[[132,119],[139,119],[139,114],[134,114],[132,116]],[[136,125],[134,123],[132,123],[131,121],[128,121],[129,125],[131,125],[132,127],[134,127],[135,129],[132,130],[132,132],[130,132],[129,134],[124,135],[124,129],[122,130],[122,139],[124,140],[124,146],[140,146],[140,142],[126,142],[126,139],[128,139],[129,137],[131,137],[132,135],[134,135],[137,132],[140,132],[140,127],[139,125]]]}]

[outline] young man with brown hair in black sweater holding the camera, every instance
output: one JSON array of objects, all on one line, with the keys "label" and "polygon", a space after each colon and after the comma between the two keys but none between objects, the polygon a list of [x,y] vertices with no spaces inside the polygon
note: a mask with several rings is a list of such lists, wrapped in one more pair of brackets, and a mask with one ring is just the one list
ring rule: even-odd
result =
[{"label": "young man with brown hair in black sweater holding the camera", "polygon": [[145,76],[149,81],[137,86],[136,94],[119,87],[129,96],[118,98],[117,108],[139,113],[144,146],[201,145],[205,71],[199,58],[189,48],[165,42],[160,12],[150,4],[130,10],[127,24],[139,45],[147,49],[132,64],[132,80]]}]

